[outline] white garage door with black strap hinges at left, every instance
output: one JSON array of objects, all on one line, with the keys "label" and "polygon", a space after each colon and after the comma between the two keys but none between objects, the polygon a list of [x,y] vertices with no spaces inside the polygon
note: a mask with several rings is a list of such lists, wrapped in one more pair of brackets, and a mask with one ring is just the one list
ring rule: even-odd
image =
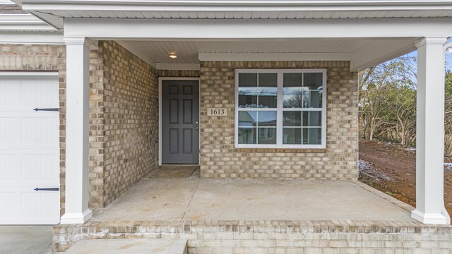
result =
[{"label": "white garage door with black strap hinges at left", "polygon": [[59,223],[58,107],[57,73],[0,73],[0,224]]}]

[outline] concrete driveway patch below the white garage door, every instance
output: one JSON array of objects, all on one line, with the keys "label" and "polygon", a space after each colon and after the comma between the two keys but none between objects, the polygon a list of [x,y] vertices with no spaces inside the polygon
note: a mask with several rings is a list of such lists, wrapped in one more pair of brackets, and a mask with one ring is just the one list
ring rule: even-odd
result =
[{"label": "concrete driveway patch below the white garage door", "polygon": [[52,226],[0,226],[0,253],[52,253]]}]

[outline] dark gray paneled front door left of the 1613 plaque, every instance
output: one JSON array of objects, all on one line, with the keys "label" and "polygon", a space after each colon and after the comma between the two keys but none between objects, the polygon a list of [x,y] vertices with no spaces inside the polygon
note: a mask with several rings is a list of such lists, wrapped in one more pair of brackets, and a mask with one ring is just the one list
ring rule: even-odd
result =
[{"label": "dark gray paneled front door left of the 1613 plaque", "polygon": [[162,80],[162,163],[199,163],[197,80]]}]

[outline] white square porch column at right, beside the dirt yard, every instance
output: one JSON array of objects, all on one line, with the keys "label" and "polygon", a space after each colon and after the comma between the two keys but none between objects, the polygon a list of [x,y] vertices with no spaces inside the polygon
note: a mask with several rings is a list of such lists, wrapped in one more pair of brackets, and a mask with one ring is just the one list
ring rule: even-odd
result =
[{"label": "white square porch column at right, beside the dirt yard", "polygon": [[417,47],[416,210],[424,224],[447,224],[444,208],[444,49],[446,38]]}]

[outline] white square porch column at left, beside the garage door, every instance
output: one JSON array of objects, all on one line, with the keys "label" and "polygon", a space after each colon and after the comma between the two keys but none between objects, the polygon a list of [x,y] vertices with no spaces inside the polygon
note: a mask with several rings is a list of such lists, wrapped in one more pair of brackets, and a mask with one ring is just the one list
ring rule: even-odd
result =
[{"label": "white square porch column at left, beside the garage door", "polygon": [[89,54],[86,38],[66,43],[66,205],[61,224],[83,224],[88,209]]}]

